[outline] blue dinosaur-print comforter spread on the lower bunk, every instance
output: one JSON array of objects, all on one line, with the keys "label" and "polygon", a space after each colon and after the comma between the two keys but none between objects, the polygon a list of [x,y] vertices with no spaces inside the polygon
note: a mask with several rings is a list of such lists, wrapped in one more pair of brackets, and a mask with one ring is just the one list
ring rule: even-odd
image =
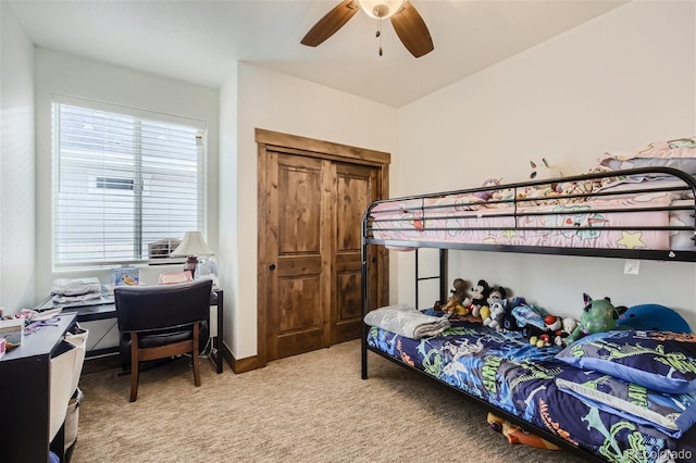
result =
[{"label": "blue dinosaur-print comforter spread on the lower bunk", "polygon": [[368,346],[505,410],[610,462],[673,461],[678,439],[655,426],[593,406],[557,387],[580,368],[518,333],[453,322],[438,336],[410,339],[370,327]]}]

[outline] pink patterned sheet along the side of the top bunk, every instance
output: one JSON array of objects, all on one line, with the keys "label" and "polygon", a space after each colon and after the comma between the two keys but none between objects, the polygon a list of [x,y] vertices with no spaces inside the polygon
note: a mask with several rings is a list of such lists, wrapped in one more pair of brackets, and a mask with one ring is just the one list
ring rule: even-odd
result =
[{"label": "pink patterned sheet along the side of the top bunk", "polygon": [[[585,202],[551,198],[515,203],[460,193],[382,202],[370,217],[374,238],[390,241],[695,250],[693,213],[693,200],[668,191]],[[692,229],[645,229],[666,226]]]}]

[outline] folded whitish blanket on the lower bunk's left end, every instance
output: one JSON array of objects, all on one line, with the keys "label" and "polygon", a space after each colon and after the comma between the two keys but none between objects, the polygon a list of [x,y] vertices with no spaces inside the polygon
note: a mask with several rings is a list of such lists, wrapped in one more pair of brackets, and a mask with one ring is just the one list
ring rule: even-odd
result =
[{"label": "folded whitish blanket on the lower bunk's left end", "polygon": [[447,316],[425,315],[408,305],[375,309],[365,315],[364,322],[411,339],[435,336],[450,326]]}]

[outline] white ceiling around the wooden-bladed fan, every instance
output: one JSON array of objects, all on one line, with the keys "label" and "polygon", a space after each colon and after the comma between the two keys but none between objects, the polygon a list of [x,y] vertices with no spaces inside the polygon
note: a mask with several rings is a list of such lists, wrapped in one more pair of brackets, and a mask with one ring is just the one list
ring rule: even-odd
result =
[{"label": "white ceiling around the wooden-bladed fan", "polygon": [[[7,0],[2,0],[7,1]],[[413,0],[435,50],[413,58],[363,12],[316,48],[300,39],[339,0],[11,0],[40,47],[213,88],[235,61],[391,107],[408,104],[625,1]]]}]

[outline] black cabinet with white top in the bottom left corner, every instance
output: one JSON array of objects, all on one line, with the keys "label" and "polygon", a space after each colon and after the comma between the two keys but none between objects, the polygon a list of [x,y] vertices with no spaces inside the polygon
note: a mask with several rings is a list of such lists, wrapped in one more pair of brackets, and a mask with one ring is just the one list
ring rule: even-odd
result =
[{"label": "black cabinet with white top in the bottom left corner", "polygon": [[63,459],[63,429],[49,442],[50,360],[74,323],[74,314],[61,314],[0,359],[0,460],[48,462],[49,448]]}]

